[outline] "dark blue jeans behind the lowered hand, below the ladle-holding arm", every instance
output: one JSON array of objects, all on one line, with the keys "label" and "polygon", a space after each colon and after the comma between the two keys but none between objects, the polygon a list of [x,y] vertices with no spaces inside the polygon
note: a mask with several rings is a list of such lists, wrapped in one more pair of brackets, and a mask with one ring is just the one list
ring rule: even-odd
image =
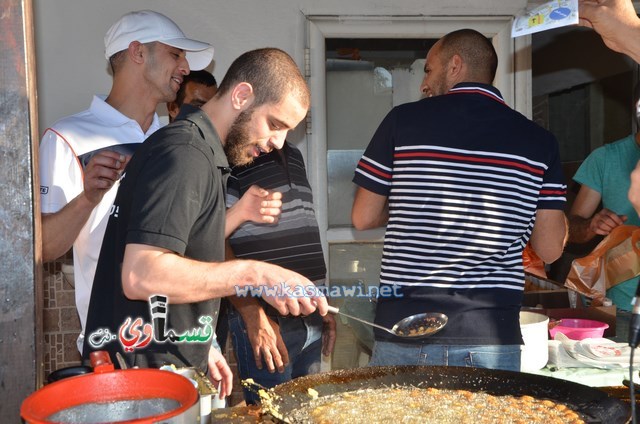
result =
[{"label": "dark blue jeans behind the lowered hand, below the ladle-holding arm", "polygon": [[[229,332],[241,380],[252,378],[256,383],[271,388],[292,378],[320,372],[322,317],[319,314],[307,317],[271,317],[280,325],[280,334],[289,352],[289,364],[282,373],[277,370],[270,373],[264,359],[262,369],[256,367],[247,329],[238,311],[229,308],[228,312]],[[247,404],[256,404],[260,400],[256,393],[246,388],[243,388],[243,393]]]}]

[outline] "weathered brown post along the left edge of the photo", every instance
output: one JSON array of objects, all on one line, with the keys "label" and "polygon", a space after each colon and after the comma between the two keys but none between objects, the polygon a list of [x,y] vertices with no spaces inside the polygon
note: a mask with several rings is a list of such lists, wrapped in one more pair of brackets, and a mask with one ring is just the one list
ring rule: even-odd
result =
[{"label": "weathered brown post along the left edge of the photo", "polygon": [[42,261],[31,0],[0,0],[0,422],[42,385]]}]

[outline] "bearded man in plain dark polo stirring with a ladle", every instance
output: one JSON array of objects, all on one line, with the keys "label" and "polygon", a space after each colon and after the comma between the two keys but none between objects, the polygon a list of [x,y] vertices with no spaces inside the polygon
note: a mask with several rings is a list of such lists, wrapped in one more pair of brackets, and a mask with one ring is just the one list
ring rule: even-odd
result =
[{"label": "bearded man in plain dark polo stirring with a ladle", "polygon": [[254,288],[283,315],[316,307],[327,313],[326,299],[307,290],[313,283],[296,272],[253,260],[223,262],[234,228],[225,217],[229,163],[281,148],[308,108],[309,89],[291,57],[253,50],[231,64],[211,100],[200,109],[184,106],[143,143],[122,178],[102,244],[85,359],[106,349],[128,367],[208,368],[224,396],[232,376],[211,348],[215,299]]}]

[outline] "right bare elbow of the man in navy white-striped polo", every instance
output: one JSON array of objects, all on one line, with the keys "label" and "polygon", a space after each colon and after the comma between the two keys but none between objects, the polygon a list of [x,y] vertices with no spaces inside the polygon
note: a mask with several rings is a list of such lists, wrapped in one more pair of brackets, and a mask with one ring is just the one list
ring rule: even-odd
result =
[{"label": "right bare elbow of the man in navy white-striped polo", "polygon": [[545,263],[557,260],[567,242],[567,218],[556,209],[538,209],[529,243]]}]

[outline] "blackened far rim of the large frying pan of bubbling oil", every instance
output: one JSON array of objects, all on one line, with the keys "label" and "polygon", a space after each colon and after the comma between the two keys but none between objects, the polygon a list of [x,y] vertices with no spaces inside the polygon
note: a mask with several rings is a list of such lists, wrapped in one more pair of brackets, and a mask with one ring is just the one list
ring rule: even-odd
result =
[{"label": "blackened far rim of the large frying pan of bubbling oil", "polygon": [[625,423],[631,419],[629,405],[589,386],[535,374],[467,367],[364,367],[314,374],[276,386],[273,403],[286,418],[309,400],[309,388],[322,397],[391,384],[483,391],[492,395],[530,395],[564,403],[588,423]]}]

